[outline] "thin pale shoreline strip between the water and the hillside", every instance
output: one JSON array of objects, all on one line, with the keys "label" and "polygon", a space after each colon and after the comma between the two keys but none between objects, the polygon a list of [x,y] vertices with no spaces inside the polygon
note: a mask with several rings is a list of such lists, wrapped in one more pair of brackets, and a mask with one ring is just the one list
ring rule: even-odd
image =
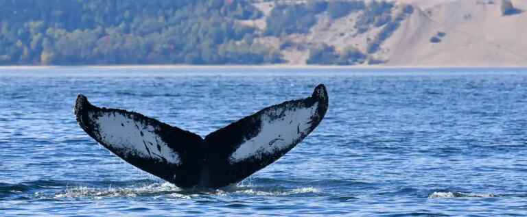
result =
[{"label": "thin pale shoreline strip between the water and the hillside", "polygon": [[3,70],[40,70],[49,68],[101,68],[101,69],[384,69],[384,68],[527,68],[527,66],[386,66],[386,65],[355,65],[355,66],[340,66],[340,65],[288,65],[288,64],[270,64],[270,65],[72,65],[72,66],[0,66],[0,71]]}]

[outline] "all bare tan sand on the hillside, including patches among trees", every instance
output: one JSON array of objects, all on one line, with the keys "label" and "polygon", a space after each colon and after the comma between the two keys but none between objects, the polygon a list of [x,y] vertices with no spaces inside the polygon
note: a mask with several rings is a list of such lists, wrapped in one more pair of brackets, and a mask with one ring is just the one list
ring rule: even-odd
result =
[{"label": "all bare tan sand on the hillside, including patches among trees", "polygon": [[[414,12],[399,28],[382,42],[379,51],[370,54],[392,66],[527,66],[527,1],[513,0],[522,13],[502,16],[501,0],[393,0],[397,16],[405,5]],[[301,1],[300,1],[301,2]],[[257,3],[266,16],[274,4]],[[288,64],[305,64],[309,46],[325,43],[337,50],[353,46],[366,53],[368,41],[381,28],[371,28],[358,34],[354,27],[358,14],[351,13],[338,19],[319,15],[318,23],[309,34],[258,38],[259,42],[279,48],[284,41],[304,46],[282,50]],[[251,21],[265,29],[265,17]],[[441,33],[440,33],[441,32]],[[438,33],[440,42],[431,42]]]}]

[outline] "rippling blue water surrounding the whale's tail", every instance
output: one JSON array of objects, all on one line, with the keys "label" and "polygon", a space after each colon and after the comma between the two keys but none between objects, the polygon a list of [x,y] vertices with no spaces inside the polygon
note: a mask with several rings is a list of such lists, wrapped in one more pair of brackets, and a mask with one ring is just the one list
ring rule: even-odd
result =
[{"label": "rippling blue water surrounding the whale's tail", "polygon": [[[181,190],[87,136],[91,103],[201,136],[329,90],[323,122],[237,186]],[[0,216],[525,216],[527,69],[0,69]]]}]

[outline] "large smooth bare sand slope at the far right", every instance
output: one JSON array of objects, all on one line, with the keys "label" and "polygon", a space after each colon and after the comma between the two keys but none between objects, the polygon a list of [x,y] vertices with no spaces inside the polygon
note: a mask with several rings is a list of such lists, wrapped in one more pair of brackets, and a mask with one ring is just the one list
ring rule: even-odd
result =
[{"label": "large smooth bare sand slope at the far right", "polygon": [[[389,65],[527,65],[527,12],[502,16],[500,1],[405,0],[417,10],[383,44]],[[513,1],[527,10],[527,1]],[[441,42],[431,43],[438,31]]]}]

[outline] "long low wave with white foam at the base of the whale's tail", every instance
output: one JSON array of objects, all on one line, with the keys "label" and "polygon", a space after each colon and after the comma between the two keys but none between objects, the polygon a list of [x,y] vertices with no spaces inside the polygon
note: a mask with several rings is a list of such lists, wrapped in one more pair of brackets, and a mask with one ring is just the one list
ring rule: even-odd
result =
[{"label": "long low wave with white foam at the base of the whale's tail", "polygon": [[20,195],[33,199],[105,199],[115,197],[153,197],[154,199],[193,199],[207,196],[250,195],[289,196],[320,194],[314,186],[299,187],[298,183],[276,179],[249,179],[226,188],[182,189],[172,183],[160,183],[151,179],[125,181],[58,181],[37,180],[22,183],[0,183],[0,198]]}]

